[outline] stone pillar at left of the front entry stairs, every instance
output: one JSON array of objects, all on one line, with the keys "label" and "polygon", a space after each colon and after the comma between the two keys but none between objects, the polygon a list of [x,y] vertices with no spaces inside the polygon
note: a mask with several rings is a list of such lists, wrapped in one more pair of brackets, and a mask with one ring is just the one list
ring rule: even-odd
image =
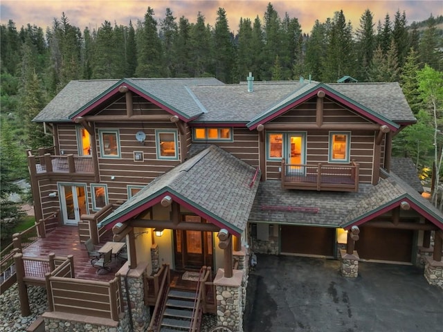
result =
[{"label": "stone pillar at left of the front entry stairs", "polygon": [[[118,271],[122,282],[122,293],[125,315],[128,314],[128,303],[126,295],[125,279],[128,283],[129,308],[132,312],[132,323],[134,331],[146,331],[150,323],[151,315],[149,306],[144,303],[143,275],[146,273],[147,263],[139,263],[138,266],[127,273],[128,263],[126,262]],[[129,322],[130,324],[130,322]],[[130,326],[130,325],[129,325]]]}]

